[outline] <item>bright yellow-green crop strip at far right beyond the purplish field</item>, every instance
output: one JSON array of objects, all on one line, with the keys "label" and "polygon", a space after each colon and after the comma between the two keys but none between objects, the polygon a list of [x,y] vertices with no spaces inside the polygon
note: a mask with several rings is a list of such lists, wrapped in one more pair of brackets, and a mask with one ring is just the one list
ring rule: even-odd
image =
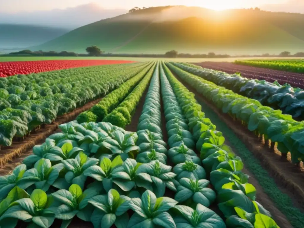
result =
[{"label": "bright yellow-green crop strip at far right beyond the purplish field", "polygon": [[304,62],[300,60],[236,60],[236,64],[274,70],[304,73]]}]

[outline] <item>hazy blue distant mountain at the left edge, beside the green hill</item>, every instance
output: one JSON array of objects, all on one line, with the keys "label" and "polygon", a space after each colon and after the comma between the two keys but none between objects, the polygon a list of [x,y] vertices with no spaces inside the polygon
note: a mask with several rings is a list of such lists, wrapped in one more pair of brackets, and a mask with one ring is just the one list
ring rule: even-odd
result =
[{"label": "hazy blue distant mountain at the left edge, beside the green hill", "polygon": [[40,45],[67,32],[68,29],[0,24],[0,51],[9,52]]}]

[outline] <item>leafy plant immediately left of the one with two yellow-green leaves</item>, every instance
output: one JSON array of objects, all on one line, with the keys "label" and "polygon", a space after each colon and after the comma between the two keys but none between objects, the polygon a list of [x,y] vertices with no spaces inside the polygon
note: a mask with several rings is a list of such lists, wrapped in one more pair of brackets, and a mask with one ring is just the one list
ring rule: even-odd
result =
[{"label": "leafy plant immediately left of the one with two yellow-green leaves", "polygon": [[84,172],[87,168],[98,163],[97,158],[89,158],[85,153],[80,152],[75,158],[63,160],[64,168],[68,171],[64,178],[69,184],[78,184],[84,188],[87,176]]}]

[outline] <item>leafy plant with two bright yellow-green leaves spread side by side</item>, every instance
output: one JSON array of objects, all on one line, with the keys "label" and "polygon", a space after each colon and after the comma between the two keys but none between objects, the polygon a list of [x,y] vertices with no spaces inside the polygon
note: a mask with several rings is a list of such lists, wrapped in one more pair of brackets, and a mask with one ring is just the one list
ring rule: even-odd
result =
[{"label": "leafy plant with two bright yellow-green leaves spread side by side", "polygon": [[123,160],[120,156],[114,158],[113,161],[104,157],[99,165],[93,165],[87,168],[83,174],[92,177],[97,181],[102,181],[103,188],[108,192],[113,187],[112,172],[122,164]]}]

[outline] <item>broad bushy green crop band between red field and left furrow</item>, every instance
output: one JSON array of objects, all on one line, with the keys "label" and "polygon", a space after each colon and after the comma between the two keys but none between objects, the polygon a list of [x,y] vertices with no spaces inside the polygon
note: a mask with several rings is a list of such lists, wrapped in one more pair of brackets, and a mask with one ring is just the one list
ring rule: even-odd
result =
[{"label": "broad bushy green crop band between red field and left furrow", "polygon": [[[54,119],[57,118],[57,115],[69,112],[75,109],[77,106],[84,105],[93,99],[105,95],[106,93],[121,85],[124,81],[133,77],[138,71],[142,70],[144,66],[145,65],[137,64],[134,66],[130,65],[127,67],[127,70],[123,69],[122,66],[119,66],[116,69],[114,65],[110,69],[108,69],[108,67],[103,67],[97,68],[95,71],[92,71],[90,68],[78,69],[78,71],[75,70],[75,72],[78,72],[80,75],[75,74],[75,77],[71,75],[72,80],[75,81],[57,85],[58,89],[61,86],[61,90],[59,89],[58,93],[54,95],[45,94],[44,97],[41,97],[39,99],[34,99],[31,97],[31,99],[25,101],[21,101],[21,98],[19,97],[19,88],[24,90],[23,87],[33,87],[34,85],[38,86],[38,84],[35,84],[33,82],[34,79],[32,81],[29,77],[29,81],[26,81],[27,85],[22,84],[22,86],[17,86],[21,83],[19,83],[18,80],[22,81],[23,78],[18,78],[15,76],[10,77],[14,78],[16,82],[16,85],[9,86],[16,89],[15,91],[10,91],[11,94],[9,95],[13,95],[16,98],[16,104],[14,106],[16,109],[5,108],[0,111],[0,145],[9,146],[12,144],[12,139],[15,136],[24,137],[27,135],[27,133],[40,126],[41,124],[53,122]],[[83,75],[81,75],[81,72],[86,72],[87,70],[90,72],[92,71],[92,74],[88,76],[87,83],[78,85],[79,80],[81,80],[81,77],[83,77]],[[102,74],[102,76],[100,74]],[[108,75],[105,77],[104,74]],[[123,74],[123,77],[118,77],[119,74]],[[39,76],[37,77],[39,78]],[[35,78],[35,76],[33,76],[33,78]],[[46,79],[46,81],[48,80]],[[95,83],[93,83],[93,85],[89,85],[90,81],[92,80],[94,80]],[[41,83],[46,83],[46,81]],[[56,82],[55,78],[54,81]],[[9,81],[11,84],[14,84],[15,82],[12,79]],[[59,83],[59,81],[57,82]],[[26,89],[28,89],[27,92],[29,92],[31,88]],[[2,88],[2,92],[4,91],[5,89]],[[14,92],[16,94],[13,94]],[[74,94],[78,92],[79,95],[77,95],[77,98],[74,97]],[[2,93],[2,95],[7,95],[7,91]]]}]

